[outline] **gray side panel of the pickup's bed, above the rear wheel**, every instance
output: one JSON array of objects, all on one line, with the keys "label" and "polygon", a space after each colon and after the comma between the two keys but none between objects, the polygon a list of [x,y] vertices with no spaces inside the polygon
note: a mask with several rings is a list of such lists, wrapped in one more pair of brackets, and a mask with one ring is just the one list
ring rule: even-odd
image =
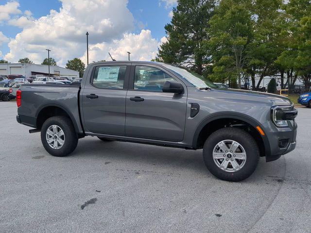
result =
[{"label": "gray side panel of the pickup's bed, above the rear wheel", "polygon": [[70,116],[77,132],[82,133],[79,107],[80,89],[79,85],[21,85],[21,106],[18,108],[21,123],[37,128],[36,118],[40,112],[49,106],[57,106]]}]

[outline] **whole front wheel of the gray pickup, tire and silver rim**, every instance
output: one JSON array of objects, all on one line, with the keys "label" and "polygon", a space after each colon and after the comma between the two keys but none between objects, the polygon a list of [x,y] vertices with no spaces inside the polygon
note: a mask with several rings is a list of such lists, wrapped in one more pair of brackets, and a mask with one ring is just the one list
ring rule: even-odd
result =
[{"label": "whole front wheel of the gray pickup, tire and silver rim", "polygon": [[225,181],[248,178],[259,162],[259,149],[253,137],[237,128],[223,128],[212,133],[203,148],[207,169]]}]

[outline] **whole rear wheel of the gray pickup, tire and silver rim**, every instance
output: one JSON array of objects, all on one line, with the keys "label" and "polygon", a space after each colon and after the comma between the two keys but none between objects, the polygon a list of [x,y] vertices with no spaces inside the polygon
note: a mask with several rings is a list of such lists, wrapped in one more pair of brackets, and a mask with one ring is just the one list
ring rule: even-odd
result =
[{"label": "whole rear wheel of the gray pickup, tire and silver rim", "polygon": [[76,149],[78,136],[66,116],[52,116],[41,128],[43,147],[53,156],[64,157]]}]

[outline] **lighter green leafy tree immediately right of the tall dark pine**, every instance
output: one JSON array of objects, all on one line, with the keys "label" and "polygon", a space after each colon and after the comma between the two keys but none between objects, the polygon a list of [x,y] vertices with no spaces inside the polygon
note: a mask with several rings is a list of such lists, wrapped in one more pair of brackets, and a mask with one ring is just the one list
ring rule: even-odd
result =
[{"label": "lighter green leafy tree immediately right of the tall dark pine", "polygon": [[[247,58],[247,49],[253,37],[253,21],[246,0],[222,0],[210,19],[211,38],[206,42],[212,50],[212,78],[227,77],[229,82],[241,78]],[[232,80],[232,81],[231,81]]]}]

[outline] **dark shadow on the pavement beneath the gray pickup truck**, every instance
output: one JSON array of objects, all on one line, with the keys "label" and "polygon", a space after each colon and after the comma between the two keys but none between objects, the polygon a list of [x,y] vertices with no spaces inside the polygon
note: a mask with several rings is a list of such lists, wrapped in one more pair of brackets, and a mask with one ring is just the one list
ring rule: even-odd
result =
[{"label": "dark shadow on the pavement beneath the gray pickup truck", "polygon": [[[79,140],[77,149],[69,156],[93,158],[96,163],[114,167],[117,164],[118,168],[132,169],[135,165],[135,167],[167,169],[176,174],[191,173],[198,177],[217,179],[207,170],[202,150],[184,150],[118,141],[103,142],[95,137],[86,137]],[[242,183],[265,183],[265,178],[272,175],[282,177],[283,165],[283,158],[270,163],[266,163],[265,158],[260,158],[253,175]]]}]

